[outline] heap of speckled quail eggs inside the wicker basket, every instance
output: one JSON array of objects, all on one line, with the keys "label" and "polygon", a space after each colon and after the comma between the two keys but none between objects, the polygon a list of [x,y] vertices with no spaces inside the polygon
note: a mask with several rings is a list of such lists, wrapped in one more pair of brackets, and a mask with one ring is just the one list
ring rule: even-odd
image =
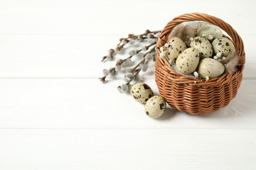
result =
[{"label": "heap of speckled quail eggs inside the wicker basket", "polygon": [[[199,78],[207,80],[224,73],[221,60],[226,59],[235,50],[234,44],[223,37],[221,29],[211,24],[200,26],[186,44],[179,37],[171,37],[165,44],[165,58],[175,65],[178,73],[196,73]],[[161,57],[163,56],[160,54]]]}]

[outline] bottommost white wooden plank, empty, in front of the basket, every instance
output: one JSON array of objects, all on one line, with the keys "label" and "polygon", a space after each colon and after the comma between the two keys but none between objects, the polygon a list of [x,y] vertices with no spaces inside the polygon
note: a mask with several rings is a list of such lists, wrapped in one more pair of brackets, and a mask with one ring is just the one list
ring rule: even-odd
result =
[{"label": "bottommost white wooden plank, empty, in front of the basket", "polygon": [[0,169],[253,170],[255,137],[255,129],[1,129]]}]

